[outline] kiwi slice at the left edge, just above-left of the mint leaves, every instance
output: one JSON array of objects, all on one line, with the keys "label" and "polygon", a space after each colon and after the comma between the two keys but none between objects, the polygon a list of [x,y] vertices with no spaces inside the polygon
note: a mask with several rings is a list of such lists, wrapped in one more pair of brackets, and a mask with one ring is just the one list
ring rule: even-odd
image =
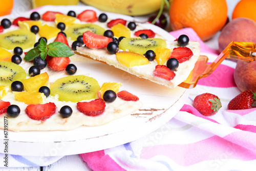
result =
[{"label": "kiwi slice at the left edge, just above-left of the mint leaves", "polygon": [[0,47],[12,50],[20,47],[23,50],[33,47],[35,44],[35,34],[27,29],[18,29],[0,34]]}]

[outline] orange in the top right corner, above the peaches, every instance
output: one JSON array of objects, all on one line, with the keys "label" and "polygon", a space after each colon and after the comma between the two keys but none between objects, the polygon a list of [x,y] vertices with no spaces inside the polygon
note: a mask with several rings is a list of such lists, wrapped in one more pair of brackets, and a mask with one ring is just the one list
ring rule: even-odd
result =
[{"label": "orange in the top right corner, above the peaches", "polygon": [[236,7],[234,7],[232,19],[245,17],[250,18],[256,22],[256,15],[255,15],[255,0],[241,0]]}]

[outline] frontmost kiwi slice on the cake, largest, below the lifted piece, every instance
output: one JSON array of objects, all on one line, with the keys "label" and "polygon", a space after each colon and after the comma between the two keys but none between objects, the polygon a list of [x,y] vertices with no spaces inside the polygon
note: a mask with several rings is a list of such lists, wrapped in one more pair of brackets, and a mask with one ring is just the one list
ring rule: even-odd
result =
[{"label": "frontmost kiwi slice on the cake, largest, below the lifted piece", "polygon": [[84,75],[59,78],[50,86],[52,96],[58,95],[58,100],[71,102],[93,99],[99,90],[98,81]]}]

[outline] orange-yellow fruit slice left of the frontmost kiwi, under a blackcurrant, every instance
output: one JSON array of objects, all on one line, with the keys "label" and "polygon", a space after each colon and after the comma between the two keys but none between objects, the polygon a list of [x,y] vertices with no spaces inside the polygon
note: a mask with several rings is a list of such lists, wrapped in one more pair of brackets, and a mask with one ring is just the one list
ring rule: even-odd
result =
[{"label": "orange-yellow fruit slice left of the frontmost kiwi, under a blackcurrant", "polygon": [[22,81],[24,85],[24,89],[27,92],[35,93],[38,92],[40,87],[47,86],[49,81],[49,75],[45,73],[41,73],[34,77],[27,78]]}]

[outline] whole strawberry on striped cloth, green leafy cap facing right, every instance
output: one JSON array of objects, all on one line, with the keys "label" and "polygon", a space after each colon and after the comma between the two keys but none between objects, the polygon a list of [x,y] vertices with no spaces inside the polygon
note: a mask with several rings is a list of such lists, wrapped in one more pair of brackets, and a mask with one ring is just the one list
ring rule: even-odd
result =
[{"label": "whole strawberry on striped cloth, green leafy cap facing right", "polygon": [[196,108],[202,115],[211,116],[221,108],[221,101],[218,96],[210,93],[204,93],[198,95],[193,102],[194,108]]}]

